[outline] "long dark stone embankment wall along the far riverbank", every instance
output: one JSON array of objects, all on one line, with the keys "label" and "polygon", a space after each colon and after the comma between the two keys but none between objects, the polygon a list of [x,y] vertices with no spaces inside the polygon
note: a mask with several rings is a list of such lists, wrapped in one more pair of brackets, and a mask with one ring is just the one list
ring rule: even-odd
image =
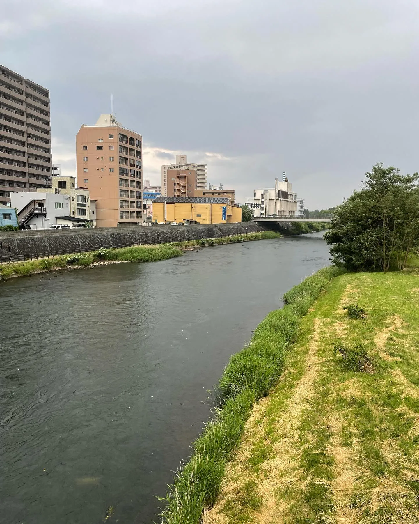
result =
[{"label": "long dark stone embankment wall along the far riverbank", "polygon": [[25,255],[60,255],[92,251],[100,247],[124,247],[135,244],[161,244],[200,238],[255,233],[264,228],[250,222],[192,226],[129,226],[71,230],[3,231],[3,242]]}]

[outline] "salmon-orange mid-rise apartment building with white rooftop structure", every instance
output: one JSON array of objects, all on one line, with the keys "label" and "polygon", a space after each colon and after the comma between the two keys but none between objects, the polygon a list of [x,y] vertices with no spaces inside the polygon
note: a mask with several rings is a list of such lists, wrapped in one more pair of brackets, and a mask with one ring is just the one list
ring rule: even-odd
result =
[{"label": "salmon-orange mid-rise apartment building with white rooftop structure", "polygon": [[96,227],[138,224],[142,214],[142,136],[126,129],[113,114],[76,136],[77,183],[96,200]]}]

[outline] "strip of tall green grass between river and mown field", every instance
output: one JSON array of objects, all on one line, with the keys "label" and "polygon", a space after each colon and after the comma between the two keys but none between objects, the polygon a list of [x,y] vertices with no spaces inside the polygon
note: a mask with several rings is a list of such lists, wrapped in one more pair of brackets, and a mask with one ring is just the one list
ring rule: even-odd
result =
[{"label": "strip of tall green grass between river and mown field", "polygon": [[166,503],[163,524],[198,524],[202,511],[215,503],[226,462],[239,445],[253,403],[268,395],[281,376],[301,317],[327,282],[343,272],[336,267],[321,269],[285,293],[284,308],[269,313],[248,346],[230,358],[217,386],[222,407],[215,410],[193,444],[191,460],[161,499]]}]

